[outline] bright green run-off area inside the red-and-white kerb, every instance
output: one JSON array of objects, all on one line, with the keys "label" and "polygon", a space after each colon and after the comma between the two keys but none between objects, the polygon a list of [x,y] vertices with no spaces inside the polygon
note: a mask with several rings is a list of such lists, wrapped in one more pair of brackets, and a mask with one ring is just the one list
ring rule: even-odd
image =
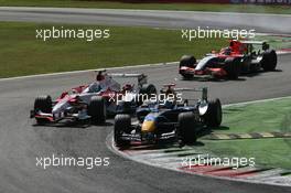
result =
[{"label": "bright green run-off area inside the red-and-white kerb", "polygon": [[[262,131],[291,132],[291,98],[263,101],[224,109],[223,126],[217,133]],[[202,149],[216,156],[255,158],[257,165],[291,169],[291,138],[203,140]]]}]

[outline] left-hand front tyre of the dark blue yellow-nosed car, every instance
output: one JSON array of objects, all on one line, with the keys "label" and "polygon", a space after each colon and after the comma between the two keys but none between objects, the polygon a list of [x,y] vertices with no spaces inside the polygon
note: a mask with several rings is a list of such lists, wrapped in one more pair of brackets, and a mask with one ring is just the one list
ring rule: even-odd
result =
[{"label": "left-hand front tyre of the dark blue yellow-nosed car", "polygon": [[119,114],[115,117],[115,143],[117,147],[126,147],[130,141],[121,139],[123,132],[129,132],[131,118],[129,115]]}]

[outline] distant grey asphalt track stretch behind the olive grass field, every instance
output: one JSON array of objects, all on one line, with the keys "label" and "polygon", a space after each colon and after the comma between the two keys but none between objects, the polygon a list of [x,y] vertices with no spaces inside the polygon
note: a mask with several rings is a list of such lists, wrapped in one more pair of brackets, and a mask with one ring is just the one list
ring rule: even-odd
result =
[{"label": "distant grey asphalt track stretch behind the olive grass field", "polygon": [[256,32],[291,32],[291,15],[64,8],[0,8],[0,21],[33,21],[137,25],[169,29],[255,29]]}]

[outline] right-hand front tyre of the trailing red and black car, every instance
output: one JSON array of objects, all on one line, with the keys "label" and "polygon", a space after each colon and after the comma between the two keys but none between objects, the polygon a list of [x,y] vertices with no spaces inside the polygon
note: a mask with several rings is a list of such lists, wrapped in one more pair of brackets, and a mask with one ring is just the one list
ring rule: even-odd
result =
[{"label": "right-hand front tyre of the trailing red and black car", "polygon": [[227,57],[225,60],[224,69],[227,73],[229,79],[237,79],[240,74],[240,58],[238,57]]}]

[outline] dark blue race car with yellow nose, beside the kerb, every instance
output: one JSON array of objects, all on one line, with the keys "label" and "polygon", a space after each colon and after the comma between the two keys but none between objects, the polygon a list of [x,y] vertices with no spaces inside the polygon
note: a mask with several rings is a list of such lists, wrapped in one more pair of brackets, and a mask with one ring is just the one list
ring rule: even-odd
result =
[{"label": "dark blue race car with yellow nose, beside the kerb", "polygon": [[[141,144],[154,144],[162,141],[177,141],[180,143],[193,143],[196,141],[201,129],[218,127],[222,122],[222,105],[219,99],[208,100],[207,88],[168,88],[161,94],[174,95],[179,92],[202,92],[200,99],[194,99],[194,105],[188,105],[191,99],[166,103],[144,103],[137,109],[137,122],[131,122],[131,117],[120,114],[115,117],[114,139],[117,147],[126,147],[131,141]],[[181,94],[181,93],[180,93]],[[170,97],[171,98],[171,97]]]}]

